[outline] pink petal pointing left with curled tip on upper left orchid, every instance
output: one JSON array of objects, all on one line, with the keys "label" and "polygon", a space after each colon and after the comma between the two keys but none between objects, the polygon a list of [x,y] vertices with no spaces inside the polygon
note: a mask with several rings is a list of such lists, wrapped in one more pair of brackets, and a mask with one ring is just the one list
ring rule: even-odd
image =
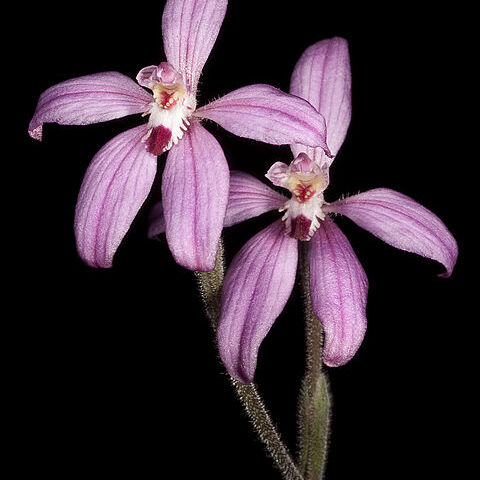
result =
[{"label": "pink petal pointing left with curled tip on upper left orchid", "polygon": [[102,72],[58,83],[40,95],[28,133],[42,139],[43,124],[88,125],[144,113],[150,93],[118,72]]}]

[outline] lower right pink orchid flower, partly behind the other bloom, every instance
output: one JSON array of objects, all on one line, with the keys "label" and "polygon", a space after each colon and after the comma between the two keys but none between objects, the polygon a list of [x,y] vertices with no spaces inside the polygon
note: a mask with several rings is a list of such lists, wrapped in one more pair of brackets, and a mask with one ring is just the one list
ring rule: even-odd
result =
[{"label": "lower right pink orchid flower, partly behind the other bloom", "polygon": [[[351,75],[347,42],[323,40],[300,57],[291,79],[291,93],[307,99],[327,122],[328,144],[336,155],[351,116]],[[369,190],[328,204],[332,162],[318,148],[292,145],[290,165],[277,162],[267,173],[283,196],[251,175],[231,172],[225,226],[269,210],[284,212],[250,239],[229,266],[222,291],[218,326],[220,356],[238,380],[253,380],[260,344],[283,310],[293,289],[298,241],[307,243],[312,307],[324,330],[326,365],[348,362],[366,329],[368,281],[350,243],[329,214],[349,217],[386,243],[442,263],[449,276],[457,244],[432,212],[411,198],[387,188]],[[150,235],[164,229],[160,206],[153,212]]]}]

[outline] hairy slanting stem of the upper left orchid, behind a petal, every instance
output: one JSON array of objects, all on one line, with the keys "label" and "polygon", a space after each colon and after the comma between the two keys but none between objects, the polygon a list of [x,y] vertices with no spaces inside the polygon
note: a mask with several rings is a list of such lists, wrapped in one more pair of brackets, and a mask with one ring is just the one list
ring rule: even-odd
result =
[{"label": "hairy slanting stem of the upper left orchid, behind a petal", "polygon": [[[195,272],[205,312],[214,332],[216,332],[220,317],[220,297],[224,274],[223,243],[220,241],[214,270],[210,272]],[[234,378],[230,378],[255,432],[265,445],[267,452],[274,460],[283,478],[285,480],[303,480],[287,447],[282,442],[255,385],[253,383],[244,385]]]}]

